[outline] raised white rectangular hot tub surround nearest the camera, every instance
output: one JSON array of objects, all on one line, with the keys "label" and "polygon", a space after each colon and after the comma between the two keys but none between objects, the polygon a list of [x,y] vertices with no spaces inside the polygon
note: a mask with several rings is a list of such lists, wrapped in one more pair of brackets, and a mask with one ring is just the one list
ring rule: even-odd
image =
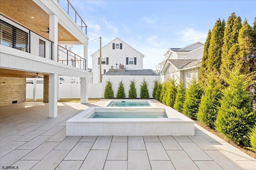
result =
[{"label": "raised white rectangular hot tub surround nearest the camera", "polygon": [[[89,118],[97,112],[136,115],[165,112],[168,118]],[[119,114],[120,115],[120,114]],[[66,121],[67,136],[194,136],[194,121],[171,107],[90,107]]]}]

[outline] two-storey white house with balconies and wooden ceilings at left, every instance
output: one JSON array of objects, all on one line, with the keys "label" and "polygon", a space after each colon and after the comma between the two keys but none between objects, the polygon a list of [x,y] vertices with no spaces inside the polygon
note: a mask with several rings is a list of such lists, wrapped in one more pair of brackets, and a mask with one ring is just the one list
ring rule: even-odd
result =
[{"label": "two-storey white house with balconies and wooden ceilings at left", "polygon": [[[58,76],[79,77],[81,103],[87,103],[89,38],[82,18],[72,15],[76,23],[57,0],[1,0],[0,11],[0,106],[25,102],[26,78],[42,77],[49,117],[56,117]],[[83,45],[84,58],[60,46],[65,44]]]}]

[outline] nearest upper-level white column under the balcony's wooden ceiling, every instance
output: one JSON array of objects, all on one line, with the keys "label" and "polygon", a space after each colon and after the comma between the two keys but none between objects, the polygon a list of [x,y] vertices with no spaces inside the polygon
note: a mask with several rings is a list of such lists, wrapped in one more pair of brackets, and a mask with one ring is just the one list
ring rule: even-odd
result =
[{"label": "nearest upper-level white column under the balcony's wooden ceiling", "polygon": [[52,60],[58,61],[58,18],[55,14],[50,14],[49,18],[49,39],[52,44]]}]

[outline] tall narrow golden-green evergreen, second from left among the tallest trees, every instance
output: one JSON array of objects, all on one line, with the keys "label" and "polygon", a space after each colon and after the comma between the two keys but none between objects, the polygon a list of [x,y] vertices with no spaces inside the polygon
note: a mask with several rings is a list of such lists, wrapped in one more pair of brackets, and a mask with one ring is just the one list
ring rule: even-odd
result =
[{"label": "tall narrow golden-green evergreen, second from left among the tallest trees", "polygon": [[225,21],[220,21],[220,18],[216,21],[212,28],[212,34],[209,46],[209,56],[207,59],[207,65],[210,71],[220,74],[221,65],[221,48],[223,45]]}]

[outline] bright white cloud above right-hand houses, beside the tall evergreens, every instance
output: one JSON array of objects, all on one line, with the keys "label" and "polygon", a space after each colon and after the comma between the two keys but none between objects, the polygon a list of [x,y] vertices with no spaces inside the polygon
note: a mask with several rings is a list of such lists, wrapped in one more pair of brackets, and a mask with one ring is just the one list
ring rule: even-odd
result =
[{"label": "bright white cloud above right-hand houses, beside the tall evergreens", "polygon": [[185,28],[176,33],[181,36],[184,43],[195,43],[197,41],[205,42],[207,33],[196,31],[193,28]]}]

